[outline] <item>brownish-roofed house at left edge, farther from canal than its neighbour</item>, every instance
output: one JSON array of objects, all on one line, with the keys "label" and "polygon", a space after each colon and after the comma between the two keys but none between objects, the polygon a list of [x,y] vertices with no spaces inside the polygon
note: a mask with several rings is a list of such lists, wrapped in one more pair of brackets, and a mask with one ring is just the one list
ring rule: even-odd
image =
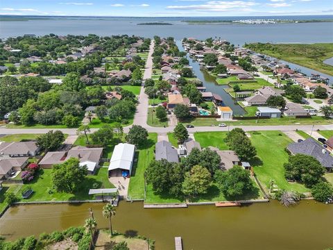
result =
[{"label": "brownish-roofed house at left edge, farther from canal than its neighbour", "polygon": [[36,142],[0,142],[0,155],[9,157],[37,156],[40,148]]}]

